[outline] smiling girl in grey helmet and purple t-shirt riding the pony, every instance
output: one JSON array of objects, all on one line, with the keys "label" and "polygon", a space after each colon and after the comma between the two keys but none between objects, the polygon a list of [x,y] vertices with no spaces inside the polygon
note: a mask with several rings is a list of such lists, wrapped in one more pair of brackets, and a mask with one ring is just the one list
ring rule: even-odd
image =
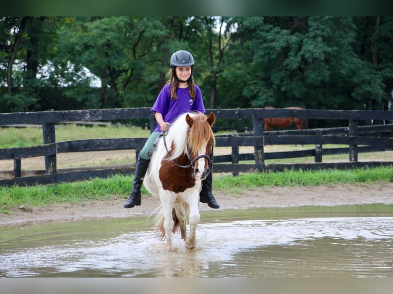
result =
[{"label": "smiling girl in grey helmet and purple t-shirt riding the pony", "polygon": [[[154,151],[154,142],[159,138],[161,132],[168,130],[170,123],[179,115],[188,112],[205,113],[202,94],[200,88],[194,84],[192,70],[194,68],[194,58],[191,53],[179,50],[172,54],[170,58],[170,79],[158,95],[152,111],[155,112],[157,127],[147,139],[145,146],[141,150],[135,165],[135,174],[131,194],[124,203],[124,208],[131,208],[141,205],[141,187],[145,177],[150,157]],[[211,166],[211,171],[212,166]],[[220,208],[211,193],[212,172],[206,177],[202,184],[200,201],[207,203],[211,208]]]}]

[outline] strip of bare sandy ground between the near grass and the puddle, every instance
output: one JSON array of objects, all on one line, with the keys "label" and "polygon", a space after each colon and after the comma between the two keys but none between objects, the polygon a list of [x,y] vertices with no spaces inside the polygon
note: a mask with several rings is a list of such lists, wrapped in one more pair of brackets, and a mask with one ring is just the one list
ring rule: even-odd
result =
[{"label": "strip of bare sandy ground between the near grass and the puddle", "polygon": [[[214,188],[213,188],[214,192]],[[335,185],[304,187],[265,187],[258,190],[239,191],[235,195],[214,193],[220,209],[245,209],[249,207],[284,207],[306,205],[393,204],[393,183],[372,185]],[[142,205],[123,208],[126,199],[92,201],[78,204],[57,204],[45,208],[14,209],[11,214],[0,213],[0,226],[46,221],[72,221],[84,218],[113,218],[151,215],[160,204],[157,197],[142,198]],[[200,210],[211,209],[201,203]]]}]

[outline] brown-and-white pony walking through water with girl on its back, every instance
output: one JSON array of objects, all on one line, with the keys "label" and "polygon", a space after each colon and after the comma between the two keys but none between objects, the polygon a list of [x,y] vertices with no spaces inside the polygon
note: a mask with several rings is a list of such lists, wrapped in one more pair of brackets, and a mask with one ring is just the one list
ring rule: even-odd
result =
[{"label": "brown-and-white pony walking through water with girl on its back", "polygon": [[[185,113],[170,125],[156,143],[144,184],[159,195],[161,206],[155,228],[166,248],[173,250],[172,233],[180,227],[187,249],[196,246],[195,232],[200,221],[199,193],[210,172],[215,139],[211,126],[214,113]],[[187,218],[190,226],[187,237]]]}]

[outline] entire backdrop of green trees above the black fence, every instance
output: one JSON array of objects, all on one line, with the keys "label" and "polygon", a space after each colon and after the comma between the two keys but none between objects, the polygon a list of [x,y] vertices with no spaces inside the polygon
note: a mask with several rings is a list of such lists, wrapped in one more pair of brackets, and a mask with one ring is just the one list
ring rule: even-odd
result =
[{"label": "entire backdrop of green trees above the black fence", "polygon": [[[207,108],[387,110],[392,28],[390,16],[3,17],[3,93],[19,30],[15,64],[22,67],[13,70],[13,88],[2,94],[0,107],[151,107],[171,53],[185,49],[194,55],[193,75]],[[48,62],[52,71],[34,76]],[[101,79],[101,88],[90,89],[84,67]]]}]

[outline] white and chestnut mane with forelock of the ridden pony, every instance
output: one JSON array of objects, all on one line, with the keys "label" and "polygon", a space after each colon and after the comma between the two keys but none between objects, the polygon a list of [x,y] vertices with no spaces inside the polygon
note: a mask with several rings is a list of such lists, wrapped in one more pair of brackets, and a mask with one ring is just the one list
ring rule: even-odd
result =
[{"label": "white and chestnut mane with forelock of the ridden pony", "polygon": [[[191,129],[186,122],[187,114],[194,120]],[[206,120],[206,115],[194,112],[184,113],[176,118],[166,134],[168,146],[171,146],[172,143],[174,146],[173,153],[168,160],[178,158],[183,153],[187,153],[187,143],[192,153],[196,153],[201,146],[208,143],[207,141],[209,140],[211,140],[213,144],[215,143],[213,132]],[[188,132],[189,134],[187,136]],[[208,139],[206,140],[206,138]]]}]

